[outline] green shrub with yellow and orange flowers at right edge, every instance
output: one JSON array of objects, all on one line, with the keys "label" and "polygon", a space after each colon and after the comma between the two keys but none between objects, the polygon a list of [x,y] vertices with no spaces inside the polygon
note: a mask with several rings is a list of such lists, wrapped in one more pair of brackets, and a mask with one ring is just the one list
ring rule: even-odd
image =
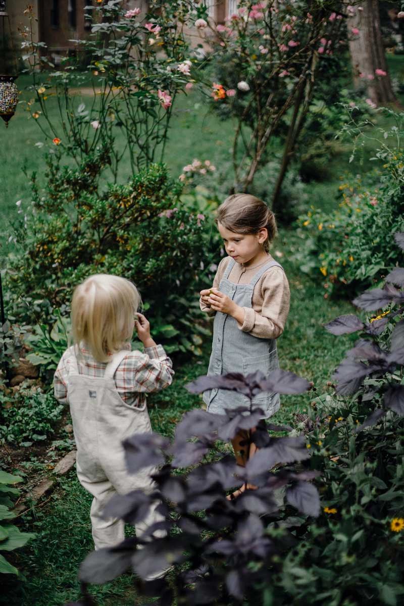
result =
[{"label": "green shrub with yellow and orange flowers at right edge", "polygon": [[[386,135],[397,135],[400,143],[404,113],[395,116],[399,126]],[[299,218],[297,258],[303,271],[322,273],[329,291],[337,285],[366,287],[380,281],[402,256],[391,234],[404,230],[404,154],[400,146],[383,145],[374,159],[383,162],[381,170],[368,176],[368,182],[360,175],[343,182],[336,210],[325,213],[312,207]]]}]

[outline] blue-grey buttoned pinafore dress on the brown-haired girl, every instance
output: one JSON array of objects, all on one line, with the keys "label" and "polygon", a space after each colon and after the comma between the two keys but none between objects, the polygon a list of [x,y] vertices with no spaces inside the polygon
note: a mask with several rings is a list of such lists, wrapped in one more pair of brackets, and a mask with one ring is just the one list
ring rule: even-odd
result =
[{"label": "blue-grey buttoned pinafore dress on the brown-haired girl", "polygon": [[[228,276],[236,261],[231,259],[225,275],[220,281],[220,292],[227,295],[240,307],[253,307],[253,291],[263,273],[270,267],[280,267],[276,261],[268,261],[251,278],[250,284],[234,284]],[[268,375],[271,370],[279,368],[276,339],[260,339],[237,328],[236,319],[226,313],[216,311],[213,324],[213,344],[210,356],[208,375],[226,375],[242,373],[248,375],[256,370]],[[225,409],[249,406],[250,400],[236,391],[213,389],[205,391],[204,402],[207,411],[223,415]],[[262,418],[274,415],[280,407],[278,393],[263,391],[253,398],[253,409],[262,408]]]}]

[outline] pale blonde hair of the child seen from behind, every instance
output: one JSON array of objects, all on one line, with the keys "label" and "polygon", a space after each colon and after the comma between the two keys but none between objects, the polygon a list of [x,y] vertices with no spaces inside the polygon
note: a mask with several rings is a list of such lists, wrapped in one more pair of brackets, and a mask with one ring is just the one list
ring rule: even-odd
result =
[{"label": "pale blonde hair of the child seen from behind", "polygon": [[133,334],[134,314],[141,296],[132,282],[119,276],[96,274],[75,288],[71,324],[76,348],[83,342],[99,362],[122,349]]}]

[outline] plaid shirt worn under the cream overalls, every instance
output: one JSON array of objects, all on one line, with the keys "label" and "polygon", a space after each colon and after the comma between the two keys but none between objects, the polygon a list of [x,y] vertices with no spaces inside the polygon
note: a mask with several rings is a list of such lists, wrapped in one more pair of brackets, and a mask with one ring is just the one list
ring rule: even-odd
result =
[{"label": "plaid shirt worn under the cream overalls", "polygon": [[[173,381],[173,363],[164,351],[162,345],[145,347],[142,351],[131,351],[130,344],[125,358],[119,364],[114,374],[114,381],[119,395],[134,407],[142,407],[145,394],[159,391],[168,387]],[[98,362],[90,352],[81,347],[81,356],[77,358],[79,373],[92,377],[103,377],[107,362]],[[75,355],[74,348],[68,348],[62,355],[54,377],[55,398],[62,404],[67,403],[67,384],[71,358]]]}]

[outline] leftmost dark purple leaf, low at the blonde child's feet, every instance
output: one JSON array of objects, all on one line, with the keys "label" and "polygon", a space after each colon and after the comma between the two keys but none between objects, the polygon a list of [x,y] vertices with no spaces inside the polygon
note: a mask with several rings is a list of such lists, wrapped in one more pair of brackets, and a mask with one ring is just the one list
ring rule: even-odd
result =
[{"label": "leftmost dark purple leaf, low at the blonde child's feet", "polygon": [[136,539],[125,539],[113,548],[91,551],[81,563],[79,579],[84,583],[101,584],[116,579],[130,568],[136,550]]}]

